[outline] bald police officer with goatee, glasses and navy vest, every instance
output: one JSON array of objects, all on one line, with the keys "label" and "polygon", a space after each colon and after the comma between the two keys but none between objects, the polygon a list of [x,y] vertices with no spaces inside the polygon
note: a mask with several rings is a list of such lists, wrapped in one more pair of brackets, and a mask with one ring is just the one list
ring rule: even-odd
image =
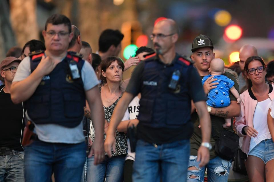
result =
[{"label": "bald police officer with goatee, glasses and navy vest", "polygon": [[191,100],[200,115],[203,144],[198,151],[201,167],[209,160],[211,124],[201,79],[187,58],[175,52],[178,27],[174,20],[159,21],[153,29],[156,54],[140,62],[117,104],[104,143],[115,147],[114,131],[130,101],[141,93],[133,181],[186,181],[190,155]]}]

